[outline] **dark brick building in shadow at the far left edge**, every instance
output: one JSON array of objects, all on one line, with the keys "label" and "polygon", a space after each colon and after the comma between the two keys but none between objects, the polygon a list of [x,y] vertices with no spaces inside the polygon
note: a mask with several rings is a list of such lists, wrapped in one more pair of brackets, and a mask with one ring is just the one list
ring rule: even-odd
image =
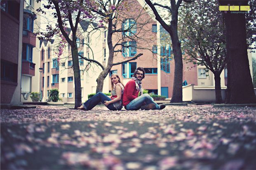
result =
[{"label": "dark brick building in shadow at the far left edge", "polygon": [[1,108],[21,104],[23,1],[1,2]]}]

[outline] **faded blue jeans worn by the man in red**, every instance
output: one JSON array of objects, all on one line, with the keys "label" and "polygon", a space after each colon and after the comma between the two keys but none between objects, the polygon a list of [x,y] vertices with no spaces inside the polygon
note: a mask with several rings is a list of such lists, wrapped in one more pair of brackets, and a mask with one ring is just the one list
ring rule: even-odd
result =
[{"label": "faded blue jeans worn by the man in red", "polygon": [[142,94],[141,96],[137,97],[136,99],[133,99],[129,104],[125,106],[126,110],[139,110],[141,106],[143,106],[144,102],[146,102],[146,105],[150,103],[155,104],[155,109],[160,109],[157,103],[153,101],[153,98],[149,94]]}]

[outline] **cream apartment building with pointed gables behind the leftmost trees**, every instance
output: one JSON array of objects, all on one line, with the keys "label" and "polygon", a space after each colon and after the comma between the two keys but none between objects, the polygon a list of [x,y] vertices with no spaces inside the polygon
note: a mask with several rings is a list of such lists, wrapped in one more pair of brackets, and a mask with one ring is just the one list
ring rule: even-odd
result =
[{"label": "cream apartment building with pointed gables behind the leftmost trees", "polygon": [[[96,23],[80,21],[77,31],[78,54],[99,61],[106,65],[107,50],[106,36],[104,31],[93,30]],[[69,36],[71,30],[68,29]],[[106,34],[105,34],[106,35]],[[73,60],[71,48],[66,43],[61,59],[58,60],[58,47],[60,38],[57,36],[53,41],[41,40],[40,43],[40,67],[43,68],[41,79],[42,101],[48,99],[51,89],[59,89],[59,97],[64,103],[75,103],[75,79],[73,72]],[[88,99],[88,94],[96,92],[96,78],[102,69],[93,62],[84,59],[79,60],[82,102]],[[105,83],[106,82],[106,83]],[[103,92],[108,92],[108,78],[104,80]]]}]

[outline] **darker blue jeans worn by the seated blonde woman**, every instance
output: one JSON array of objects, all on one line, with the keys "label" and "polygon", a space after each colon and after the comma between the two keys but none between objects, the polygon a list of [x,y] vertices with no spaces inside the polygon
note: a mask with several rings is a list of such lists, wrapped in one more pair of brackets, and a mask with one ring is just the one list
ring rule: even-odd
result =
[{"label": "darker blue jeans worn by the seated blonde woman", "polygon": [[[91,110],[92,108],[94,108],[99,102],[105,103],[105,101],[110,101],[111,99],[104,93],[99,92],[97,94],[95,94],[94,96],[92,96],[89,100],[87,100],[85,103],[83,103],[82,105],[84,106],[84,108],[86,110]],[[113,103],[110,103],[107,108],[109,110],[117,110]]]}]

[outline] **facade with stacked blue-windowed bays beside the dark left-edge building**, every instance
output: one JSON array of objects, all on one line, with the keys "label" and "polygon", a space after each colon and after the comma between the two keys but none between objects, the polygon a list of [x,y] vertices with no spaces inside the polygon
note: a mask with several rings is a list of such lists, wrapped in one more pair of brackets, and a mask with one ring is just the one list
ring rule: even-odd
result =
[{"label": "facade with stacked blue-windowed bays beside the dark left-edge building", "polygon": [[22,30],[21,102],[32,101],[31,92],[39,92],[39,47],[40,41],[34,32],[39,31],[40,15],[36,15],[41,3],[25,0]]}]

